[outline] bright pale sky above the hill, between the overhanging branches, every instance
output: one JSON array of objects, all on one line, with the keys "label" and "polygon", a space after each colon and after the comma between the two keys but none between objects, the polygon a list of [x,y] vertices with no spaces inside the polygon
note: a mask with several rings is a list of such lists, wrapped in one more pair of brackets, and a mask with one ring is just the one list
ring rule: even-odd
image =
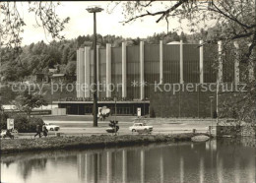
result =
[{"label": "bright pale sky above the hill, between the overhanging branches", "polygon": [[[79,35],[87,35],[94,33],[94,19],[93,14],[88,13],[86,10],[89,6],[99,5],[104,11],[96,14],[96,31],[101,35],[106,34],[114,34],[121,35],[123,37],[147,37],[148,35],[153,35],[155,32],[160,33],[162,31],[166,32],[166,22],[161,21],[160,23],[156,23],[159,19],[156,17],[147,17],[144,18],[143,21],[137,20],[136,22],[129,23],[123,26],[120,22],[124,21],[124,17],[122,16],[122,7],[117,6],[111,14],[106,12],[107,5],[114,6],[114,2],[104,1],[104,2],[61,2],[61,5],[56,9],[57,14],[61,18],[70,17],[70,22],[66,25],[65,30],[62,31],[61,34],[64,34],[67,39],[76,38]],[[165,3],[165,2],[163,2]],[[158,5],[154,7],[152,12],[158,11],[162,8],[162,3],[158,2]],[[27,3],[23,3],[20,7],[22,11],[22,16],[25,19],[25,23],[27,24],[24,34],[23,34],[23,45],[31,44],[32,42],[37,42],[40,40],[44,40],[45,42],[51,41],[51,37],[45,35],[42,28],[35,28],[35,20],[32,13],[28,13]],[[176,29],[181,25],[177,20],[169,21],[169,30]],[[184,32],[188,31],[185,26]]]}]

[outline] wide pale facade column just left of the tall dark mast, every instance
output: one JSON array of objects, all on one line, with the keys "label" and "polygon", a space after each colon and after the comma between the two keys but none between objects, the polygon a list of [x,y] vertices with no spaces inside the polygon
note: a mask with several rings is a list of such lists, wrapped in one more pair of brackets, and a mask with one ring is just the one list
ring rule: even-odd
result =
[{"label": "wide pale facade column just left of the tall dark mast", "polygon": [[90,58],[91,48],[85,47],[85,97],[90,97]]}]

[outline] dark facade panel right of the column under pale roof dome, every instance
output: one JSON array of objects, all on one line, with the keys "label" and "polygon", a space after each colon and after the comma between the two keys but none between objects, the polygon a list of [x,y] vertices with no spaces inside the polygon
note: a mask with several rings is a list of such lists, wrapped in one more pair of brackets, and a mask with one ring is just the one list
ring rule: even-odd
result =
[{"label": "dark facade panel right of the column under pale roof dome", "polygon": [[184,83],[199,83],[199,45],[183,44]]}]

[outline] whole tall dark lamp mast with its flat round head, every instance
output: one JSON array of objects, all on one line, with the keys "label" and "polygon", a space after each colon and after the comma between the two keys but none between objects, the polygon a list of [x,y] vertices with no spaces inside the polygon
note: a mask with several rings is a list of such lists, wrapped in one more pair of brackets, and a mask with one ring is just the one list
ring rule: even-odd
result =
[{"label": "whole tall dark lamp mast with its flat round head", "polygon": [[97,83],[96,83],[96,13],[103,9],[98,6],[90,6],[87,8],[89,13],[94,13],[94,127],[97,127]]}]

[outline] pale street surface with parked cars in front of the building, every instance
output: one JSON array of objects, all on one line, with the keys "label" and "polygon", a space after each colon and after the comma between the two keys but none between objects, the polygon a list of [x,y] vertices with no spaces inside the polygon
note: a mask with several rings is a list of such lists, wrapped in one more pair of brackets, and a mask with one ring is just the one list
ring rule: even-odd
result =
[{"label": "pale street surface with parked cars in front of the building", "polygon": [[[114,120],[114,116],[109,116],[105,121],[98,120],[98,126],[93,127],[93,116],[42,116],[45,123],[60,126],[59,133],[64,135],[100,135],[106,134],[105,129],[108,128],[109,120]],[[133,125],[136,116],[116,116],[120,127],[118,133],[120,135],[132,134],[129,126]],[[216,126],[215,119],[195,119],[195,118],[142,118],[139,121],[146,122],[153,126],[152,134],[174,134],[174,133],[190,133],[193,129],[196,132],[206,133],[209,126]],[[137,133],[133,133],[137,134]],[[55,135],[55,132],[49,132],[49,135]]]}]

